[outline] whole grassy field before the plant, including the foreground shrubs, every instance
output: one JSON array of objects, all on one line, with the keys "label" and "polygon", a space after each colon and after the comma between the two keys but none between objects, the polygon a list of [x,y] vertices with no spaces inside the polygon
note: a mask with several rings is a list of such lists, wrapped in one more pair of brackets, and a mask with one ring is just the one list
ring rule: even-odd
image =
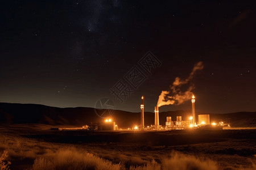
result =
[{"label": "whole grassy field before the plant, including the foreground shrubs", "polygon": [[50,128],[1,125],[0,169],[256,168],[255,129],[139,133]]}]

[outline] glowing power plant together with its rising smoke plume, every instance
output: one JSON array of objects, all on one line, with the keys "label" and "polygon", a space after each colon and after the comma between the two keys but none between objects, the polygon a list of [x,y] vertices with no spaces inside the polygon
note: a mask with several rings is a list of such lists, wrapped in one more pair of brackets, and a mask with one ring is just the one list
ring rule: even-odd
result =
[{"label": "glowing power plant together with its rising smoke plume", "polygon": [[[180,91],[180,86],[183,84],[188,84],[188,82],[193,78],[193,75],[195,74],[196,70],[201,70],[203,69],[203,63],[198,62],[196,65],[193,67],[192,72],[189,74],[188,78],[185,80],[180,79],[179,77],[175,78],[175,81],[172,83],[170,91],[162,91],[161,94],[158,97],[158,102],[155,106],[154,110],[154,125],[146,125],[144,124],[144,96],[141,97],[141,118],[137,117],[139,116],[137,113],[135,120],[133,117],[134,122],[140,122],[137,125],[133,125],[132,128],[126,128],[126,129],[121,129],[118,128],[117,124],[115,124],[113,117],[108,117],[105,122],[101,122],[98,124],[90,124],[89,128],[90,130],[178,130],[178,129],[197,129],[197,128],[205,128],[205,129],[211,129],[211,128],[221,128],[224,126],[224,122],[211,122],[210,124],[210,115],[209,114],[196,114],[196,109],[195,109],[195,103],[196,103],[196,97],[195,95],[192,94],[193,87],[189,87],[189,90],[185,91],[184,93],[181,92],[178,93],[177,91]],[[170,96],[172,94],[172,96]],[[190,100],[191,99],[191,112],[181,117],[181,115],[176,114],[176,121],[174,118],[171,116],[166,115],[166,124],[165,126],[159,124],[159,108],[162,107],[163,105],[174,105],[174,104],[183,104],[184,101]],[[108,108],[109,109],[109,108]],[[181,114],[181,113],[180,113]],[[134,114],[133,114],[134,115]],[[101,117],[101,116],[100,116]],[[118,117],[118,116],[117,116]],[[121,118],[121,117],[119,117]],[[172,120],[174,119],[174,120]],[[139,121],[140,120],[140,121]],[[147,119],[148,121],[149,119]],[[153,123],[152,117],[150,119],[151,123]],[[117,120],[118,122],[118,120]],[[127,122],[121,120],[123,124],[126,124],[125,126],[127,127]],[[161,121],[163,124],[163,117],[161,117]],[[228,124],[227,124],[228,125]],[[121,125],[122,126],[122,125]],[[129,125],[128,125],[129,126]],[[229,126],[229,125],[228,125]]]}]

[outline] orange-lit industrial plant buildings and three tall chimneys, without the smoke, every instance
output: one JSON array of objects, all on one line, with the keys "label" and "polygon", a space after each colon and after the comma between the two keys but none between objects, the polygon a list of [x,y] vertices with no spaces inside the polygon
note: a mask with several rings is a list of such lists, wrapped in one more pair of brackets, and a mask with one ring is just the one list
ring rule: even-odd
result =
[{"label": "orange-lit industrial plant buildings and three tall chimneys, without the smoke", "polygon": [[[198,119],[196,119],[196,109],[195,109],[195,95],[191,96],[191,114],[183,119],[181,116],[176,116],[172,120],[171,116],[166,117],[165,126],[159,125],[159,105],[155,106],[155,124],[150,126],[144,125],[144,96],[141,97],[141,124],[134,125],[132,128],[121,129],[115,124],[115,121],[108,117],[104,122],[99,124],[90,123],[82,127],[84,130],[133,130],[133,131],[150,131],[150,130],[182,130],[182,129],[222,129],[224,122],[212,122],[210,124],[209,114],[198,114]],[[198,120],[198,121],[197,121]],[[228,125],[229,126],[229,125]],[[64,129],[63,129],[64,130]]]}]

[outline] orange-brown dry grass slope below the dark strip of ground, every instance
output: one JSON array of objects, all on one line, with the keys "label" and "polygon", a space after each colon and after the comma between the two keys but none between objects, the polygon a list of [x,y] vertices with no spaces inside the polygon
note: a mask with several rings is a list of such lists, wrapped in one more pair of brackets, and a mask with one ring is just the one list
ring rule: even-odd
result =
[{"label": "orange-brown dry grass slope below the dark strip of ground", "polygon": [[[35,127],[37,128],[46,127]],[[246,143],[246,141],[185,146],[148,146],[131,143],[68,144],[24,138],[16,135],[14,129],[0,130],[1,170],[9,167],[11,169],[256,169],[255,155],[239,155],[240,152],[255,147],[255,143]],[[225,154],[225,150],[231,150],[231,147],[227,148],[230,145],[238,147],[233,155]]]}]

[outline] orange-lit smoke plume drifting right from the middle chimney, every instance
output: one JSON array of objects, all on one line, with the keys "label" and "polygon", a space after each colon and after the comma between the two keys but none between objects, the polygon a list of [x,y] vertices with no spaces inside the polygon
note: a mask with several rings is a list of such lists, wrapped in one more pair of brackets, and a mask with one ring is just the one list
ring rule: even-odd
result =
[{"label": "orange-lit smoke plume drifting right from the middle chimney", "polygon": [[[189,74],[188,78],[181,80],[179,77],[176,77],[172,85],[170,86],[170,91],[162,91],[158,99],[158,107],[163,105],[175,104],[179,105],[191,99],[192,90],[195,88],[193,84],[189,84],[197,70],[202,70],[204,68],[203,62],[198,62],[193,67],[193,70]],[[186,91],[181,91],[181,86],[184,84],[189,84],[189,87]]]}]

